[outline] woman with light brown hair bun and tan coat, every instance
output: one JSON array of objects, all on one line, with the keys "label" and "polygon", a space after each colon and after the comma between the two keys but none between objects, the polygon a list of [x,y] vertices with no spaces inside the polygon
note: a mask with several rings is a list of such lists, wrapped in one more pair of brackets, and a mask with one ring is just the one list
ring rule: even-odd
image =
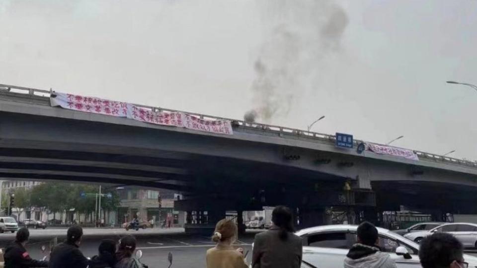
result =
[{"label": "woman with light brown hair bun and tan coat", "polygon": [[215,226],[212,241],[217,245],[207,251],[207,268],[247,268],[243,249],[234,249],[232,244],[237,240],[238,228],[235,222],[223,219]]}]

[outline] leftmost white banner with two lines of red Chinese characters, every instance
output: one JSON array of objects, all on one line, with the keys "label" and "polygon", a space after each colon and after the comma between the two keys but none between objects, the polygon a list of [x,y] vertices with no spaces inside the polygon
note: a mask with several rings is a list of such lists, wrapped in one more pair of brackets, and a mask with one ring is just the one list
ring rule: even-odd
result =
[{"label": "leftmost white banner with two lines of red Chinese characters", "polygon": [[65,109],[117,117],[126,117],[128,109],[125,102],[59,92],[52,93],[50,103],[51,106],[61,106]]}]

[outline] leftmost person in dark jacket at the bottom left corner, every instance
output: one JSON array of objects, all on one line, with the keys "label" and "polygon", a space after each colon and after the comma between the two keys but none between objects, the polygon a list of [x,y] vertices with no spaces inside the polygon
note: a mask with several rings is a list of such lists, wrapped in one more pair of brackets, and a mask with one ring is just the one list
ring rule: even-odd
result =
[{"label": "leftmost person in dark jacket at the bottom left corner", "polygon": [[16,232],[15,241],[5,249],[5,268],[48,267],[47,261],[37,261],[30,258],[25,249],[29,237],[30,232],[25,227]]}]

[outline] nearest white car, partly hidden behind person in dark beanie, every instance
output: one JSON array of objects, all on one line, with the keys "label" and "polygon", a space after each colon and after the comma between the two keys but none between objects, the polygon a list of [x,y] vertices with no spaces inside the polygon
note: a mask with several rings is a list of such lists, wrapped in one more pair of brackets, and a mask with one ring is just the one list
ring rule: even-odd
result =
[{"label": "nearest white car, partly hidden behind person in dark beanie", "polygon": [[[357,225],[325,225],[300,230],[303,260],[319,268],[342,267],[349,249],[356,243]],[[387,229],[378,228],[379,246],[396,260],[398,268],[419,268],[419,245]],[[405,259],[404,254],[408,253]],[[477,258],[464,255],[469,267],[477,267]]]}]

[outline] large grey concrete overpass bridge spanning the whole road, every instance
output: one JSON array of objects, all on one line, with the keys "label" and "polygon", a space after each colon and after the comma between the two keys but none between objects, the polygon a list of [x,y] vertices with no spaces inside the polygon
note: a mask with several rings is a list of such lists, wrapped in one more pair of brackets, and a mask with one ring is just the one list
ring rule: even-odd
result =
[{"label": "large grey concrete overpass bridge spanning the whole road", "polygon": [[280,203],[299,208],[304,225],[330,206],[477,213],[475,162],[358,153],[336,147],[334,135],[239,120],[233,135],[159,126],[51,107],[50,93],[0,84],[0,178],[176,190],[186,197],[177,209],[208,211],[211,221]]}]

